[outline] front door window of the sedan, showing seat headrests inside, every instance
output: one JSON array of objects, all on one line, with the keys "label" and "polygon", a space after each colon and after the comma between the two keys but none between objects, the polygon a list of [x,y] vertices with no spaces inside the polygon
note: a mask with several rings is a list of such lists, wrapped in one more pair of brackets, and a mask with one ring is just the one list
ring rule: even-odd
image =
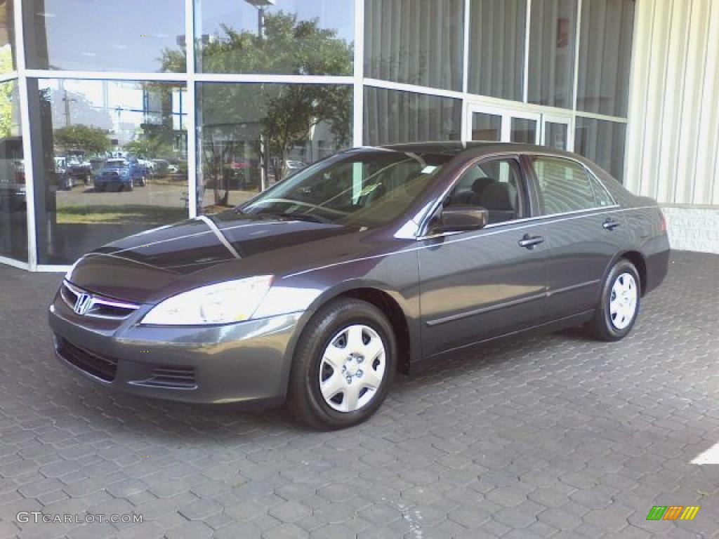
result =
[{"label": "front door window of the sedan, showing seat headrests inside", "polygon": [[444,206],[480,206],[489,211],[489,224],[525,217],[524,189],[516,160],[480,162],[464,172]]}]

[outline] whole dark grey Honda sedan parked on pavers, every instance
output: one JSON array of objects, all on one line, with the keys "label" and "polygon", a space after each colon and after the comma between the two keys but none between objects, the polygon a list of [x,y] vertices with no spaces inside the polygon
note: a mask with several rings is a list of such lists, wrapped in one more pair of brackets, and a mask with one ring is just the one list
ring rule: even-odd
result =
[{"label": "whole dark grey Honda sedan parked on pavers", "polygon": [[99,384],[342,428],[457,349],[567,326],[618,341],[668,259],[656,202],[578,155],[363,147],[86,254],[49,317],[60,361]]}]

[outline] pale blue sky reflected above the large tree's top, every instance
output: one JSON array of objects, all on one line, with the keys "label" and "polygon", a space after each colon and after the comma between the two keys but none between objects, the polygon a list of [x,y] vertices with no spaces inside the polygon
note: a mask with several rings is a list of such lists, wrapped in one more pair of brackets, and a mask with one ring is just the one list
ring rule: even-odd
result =
[{"label": "pale blue sky reflected above the large tree's top", "polygon": [[[354,41],[352,0],[277,0],[265,13],[277,11],[296,13],[300,20],[319,17],[321,28],[334,29],[338,37]],[[220,24],[257,32],[257,9],[244,0],[196,0],[196,17],[198,34],[222,34]]]}]

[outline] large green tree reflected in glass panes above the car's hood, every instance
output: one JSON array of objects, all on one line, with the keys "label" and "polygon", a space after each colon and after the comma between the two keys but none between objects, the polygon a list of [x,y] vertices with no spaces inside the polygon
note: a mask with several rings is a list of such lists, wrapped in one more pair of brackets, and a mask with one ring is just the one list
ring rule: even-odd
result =
[{"label": "large green tree reflected in glass panes above the car's hood", "polygon": [[[352,45],[337,37],[336,30],[320,28],[319,19],[298,20],[296,14],[283,11],[267,14],[264,37],[222,28],[224,38],[201,45],[198,64],[205,73],[352,73]],[[163,69],[177,70],[184,61],[184,52],[165,51]],[[352,91],[347,86],[205,83],[200,96],[203,176],[213,185],[216,204],[228,203],[229,165],[246,149],[257,156],[252,168],[271,163],[274,178],[280,180],[289,152],[306,146],[319,124],[328,126],[333,149],[350,142]],[[252,147],[240,142],[247,140]],[[243,167],[234,172],[241,178],[240,187],[257,185],[259,178],[247,177],[249,163],[235,167]]]}]

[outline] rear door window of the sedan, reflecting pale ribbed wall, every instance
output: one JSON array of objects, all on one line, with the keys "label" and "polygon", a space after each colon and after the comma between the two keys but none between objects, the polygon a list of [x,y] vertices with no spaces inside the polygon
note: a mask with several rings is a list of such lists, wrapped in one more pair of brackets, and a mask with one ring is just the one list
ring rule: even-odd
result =
[{"label": "rear door window of the sedan, reflecting pale ribbed wall", "polygon": [[[604,206],[598,199],[600,190],[608,198],[601,185],[592,186],[592,180],[578,163],[557,157],[536,157],[532,166],[539,183],[542,215]],[[611,199],[608,200],[611,204]]]}]

